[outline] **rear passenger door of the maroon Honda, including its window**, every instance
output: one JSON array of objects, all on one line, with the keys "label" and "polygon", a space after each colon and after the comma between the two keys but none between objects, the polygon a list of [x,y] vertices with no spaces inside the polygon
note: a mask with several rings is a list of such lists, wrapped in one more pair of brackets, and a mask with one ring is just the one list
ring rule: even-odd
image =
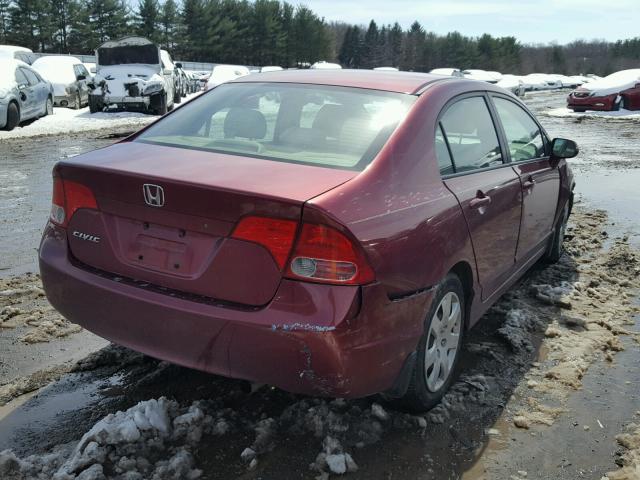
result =
[{"label": "rear passenger door of the maroon Honda, including its window", "polygon": [[438,135],[447,148],[437,148],[450,157],[453,173],[442,170],[446,158],[439,163],[467,221],[483,299],[514,271],[522,210],[520,178],[502,153],[487,102],[474,94],[445,107]]}]

